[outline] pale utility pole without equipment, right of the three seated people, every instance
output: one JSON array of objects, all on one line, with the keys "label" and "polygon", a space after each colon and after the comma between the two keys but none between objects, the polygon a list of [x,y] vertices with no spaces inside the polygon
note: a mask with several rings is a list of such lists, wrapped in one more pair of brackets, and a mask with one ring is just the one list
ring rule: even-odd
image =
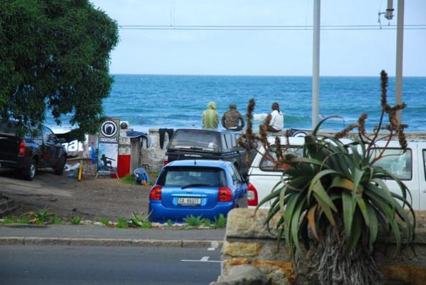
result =
[{"label": "pale utility pole without equipment, right of the three seated people", "polygon": [[321,1],[313,2],[312,128],[320,116],[320,15]]}]

